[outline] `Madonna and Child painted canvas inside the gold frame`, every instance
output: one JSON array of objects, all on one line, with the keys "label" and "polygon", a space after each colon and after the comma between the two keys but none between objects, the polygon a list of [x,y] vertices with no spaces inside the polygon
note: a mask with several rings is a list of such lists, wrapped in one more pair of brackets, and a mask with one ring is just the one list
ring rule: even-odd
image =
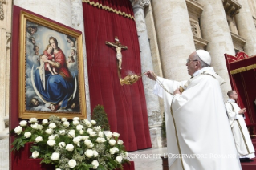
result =
[{"label": "Madonna and Child painted canvas inside the gold frame", "polygon": [[77,41],[26,21],[26,111],[80,112]]}]

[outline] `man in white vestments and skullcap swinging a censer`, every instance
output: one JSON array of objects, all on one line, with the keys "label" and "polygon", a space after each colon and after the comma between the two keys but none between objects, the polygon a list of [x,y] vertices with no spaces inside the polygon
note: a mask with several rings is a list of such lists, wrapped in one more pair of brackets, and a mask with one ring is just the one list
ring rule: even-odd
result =
[{"label": "man in white vestments and skullcap swinging a censer", "polygon": [[189,55],[192,78],[184,82],[145,73],[156,80],[154,93],[165,102],[169,170],[241,169],[221,94],[224,81],[210,62],[207,51]]}]

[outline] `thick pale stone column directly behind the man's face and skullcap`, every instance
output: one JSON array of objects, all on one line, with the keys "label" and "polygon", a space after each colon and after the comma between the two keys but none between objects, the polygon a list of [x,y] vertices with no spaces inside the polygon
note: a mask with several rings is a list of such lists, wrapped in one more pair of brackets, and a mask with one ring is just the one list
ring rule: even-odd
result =
[{"label": "thick pale stone column directly behind the man's face and skullcap", "polygon": [[189,79],[186,59],[195,51],[185,0],[152,0],[156,35],[166,79]]}]

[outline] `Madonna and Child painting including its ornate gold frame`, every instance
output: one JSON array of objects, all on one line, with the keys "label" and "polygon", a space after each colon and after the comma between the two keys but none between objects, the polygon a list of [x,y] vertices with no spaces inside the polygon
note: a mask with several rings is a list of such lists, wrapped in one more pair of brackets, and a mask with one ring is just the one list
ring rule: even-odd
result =
[{"label": "Madonna and Child painting including its ornate gold frame", "polygon": [[19,118],[86,118],[82,33],[21,11]]}]

